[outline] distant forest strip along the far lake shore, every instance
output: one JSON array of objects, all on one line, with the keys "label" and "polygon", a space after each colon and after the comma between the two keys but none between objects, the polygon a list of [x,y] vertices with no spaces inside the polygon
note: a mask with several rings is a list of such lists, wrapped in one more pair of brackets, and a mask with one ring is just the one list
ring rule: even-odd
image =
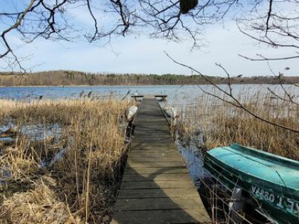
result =
[{"label": "distant forest strip along the far lake shore", "polygon": [[[228,78],[207,76],[215,84],[226,84]],[[298,76],[283,76],[284,84],[298,84]],[[273,76],[256,75],[230,78],[231,84],[279,84],[281,80]],[[0,73],[0,86],[28,85],[206,85],[201,75],[141,75],[141,74],[104,74],[82,73],[58,70],[41,73]]]}]

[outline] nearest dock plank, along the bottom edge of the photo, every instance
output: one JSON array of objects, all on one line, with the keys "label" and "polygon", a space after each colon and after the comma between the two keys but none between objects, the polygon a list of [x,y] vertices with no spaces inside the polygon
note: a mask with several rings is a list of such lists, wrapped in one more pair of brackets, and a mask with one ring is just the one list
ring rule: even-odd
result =
[{"label": "nearest dock plank, along the bottom edge of the photo", "polygon": [[138,210],[117,211],[111,223],[211,223],[211,220],[199,210]]}]

